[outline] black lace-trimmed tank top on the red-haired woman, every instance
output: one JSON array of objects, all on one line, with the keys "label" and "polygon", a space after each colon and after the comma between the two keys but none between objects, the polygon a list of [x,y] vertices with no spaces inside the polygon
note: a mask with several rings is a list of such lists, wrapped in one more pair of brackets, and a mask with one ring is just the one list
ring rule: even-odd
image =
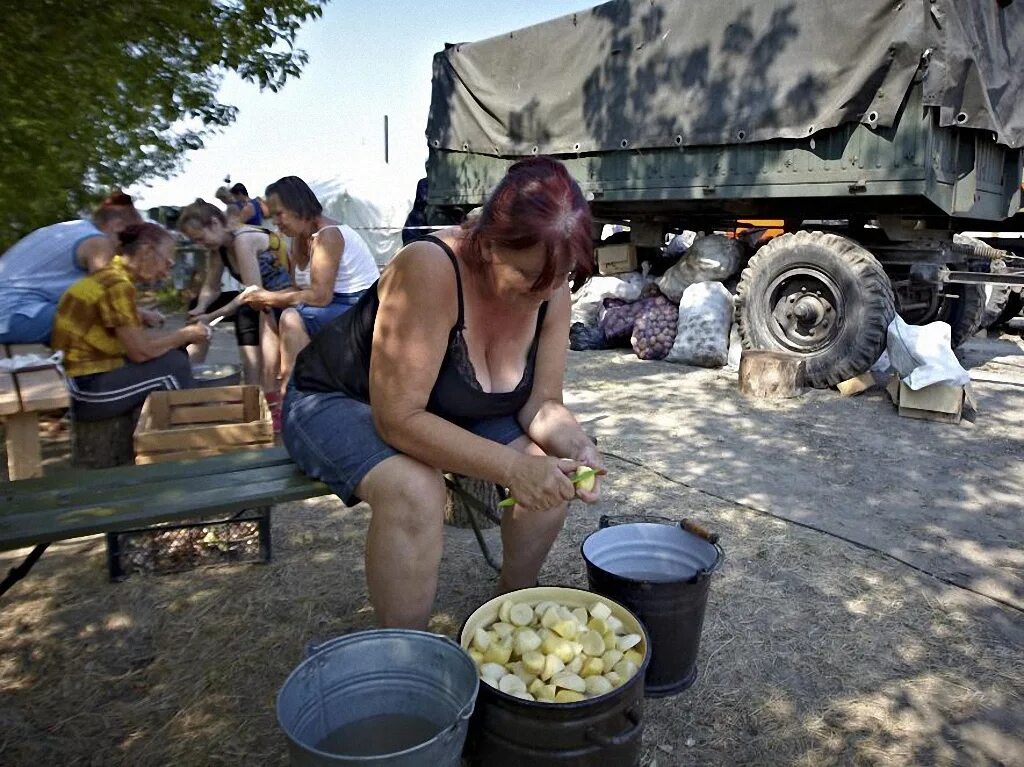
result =
[{"label": "black lace-trimmed tank top on the red-haired woman", "polygon": [[[537,345],[548,311],[548,302],[541,304],[538,311],[537,329],[519,384],[512,391],[483,391],[476,379],[462,335],[465,310],[459,262],[452,249],[437,238],[426,237],[424,240],[440,246],[452,261],[459,294],[459,316],[449,333],[447,349],[430,392],[427,411],[459,425],[515,415],[526,403],[534,388]],[[370,355],[374,323],[380,307],[378,284],[374,283],[351,309],[317,333],[299,353],[293,380],[300,391],[341,391],[373,404],[370,400]]]}]

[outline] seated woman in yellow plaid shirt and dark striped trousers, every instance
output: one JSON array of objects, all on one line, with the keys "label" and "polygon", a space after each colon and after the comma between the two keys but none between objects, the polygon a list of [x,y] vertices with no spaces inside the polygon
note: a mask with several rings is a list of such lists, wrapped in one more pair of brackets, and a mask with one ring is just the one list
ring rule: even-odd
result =
[{"label": "seated woman in yellow plaid shirt and dark striped trousers", "polygon": [[52,345],[63,352],[72,414],[80,421],[128,413],[152,391],[190,388],[191,366],[182,349],[210,336],[205,325],[142,329],[134,283],[167,276],[175,241],[155,223],[132,224],[120,238],[121,255],[71,286],[53,318]]}]

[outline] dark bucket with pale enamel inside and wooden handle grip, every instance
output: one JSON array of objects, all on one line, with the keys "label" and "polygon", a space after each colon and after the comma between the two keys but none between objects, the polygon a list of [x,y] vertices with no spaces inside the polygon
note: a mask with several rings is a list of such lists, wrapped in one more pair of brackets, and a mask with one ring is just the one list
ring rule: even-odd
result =
[{"label": "dark bucket with pale enamel inside and wooden handle grip", "polygon": [[696,525],[616,520],[601,517],[601,529],[583,543],[590,589],[625,605],[646,627],[647,696],[681,692],[697,677],[708,589],[722,549]]}]

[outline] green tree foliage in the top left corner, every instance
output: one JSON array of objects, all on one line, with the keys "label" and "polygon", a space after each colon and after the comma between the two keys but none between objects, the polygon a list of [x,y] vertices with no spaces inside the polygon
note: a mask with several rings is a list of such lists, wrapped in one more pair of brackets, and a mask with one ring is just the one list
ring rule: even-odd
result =
[{"label": "green tree foliage in the top left corner", "polygon": [[103,191],[166,176],[237,110],[223,75],[276,91],[328,0],[23,0],[0,25],[0,246]]}]

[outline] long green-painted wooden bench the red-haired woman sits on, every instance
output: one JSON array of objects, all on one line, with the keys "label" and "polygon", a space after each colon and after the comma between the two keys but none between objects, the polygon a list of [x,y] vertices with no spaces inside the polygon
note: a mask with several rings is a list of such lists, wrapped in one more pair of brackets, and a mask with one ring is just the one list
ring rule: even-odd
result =
[{"label": "long green-painted wooden bench the red-haired woman sits on", "polygon": [[[5,482],[0,484],[0,551],[35,548],[0,583],[0,594],[28,574],[55,541],[232,514],[332,493],[303,474],[284,448],[144,466],[73,469],[53,477]],[[499,568],[472,517],[471,521],[484,558]]]}]

